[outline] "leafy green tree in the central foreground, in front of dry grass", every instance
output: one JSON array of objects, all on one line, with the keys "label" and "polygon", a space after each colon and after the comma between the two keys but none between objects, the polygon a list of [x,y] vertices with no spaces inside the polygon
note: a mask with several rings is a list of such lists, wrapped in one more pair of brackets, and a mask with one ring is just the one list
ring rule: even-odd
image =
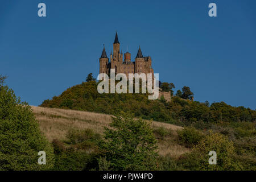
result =
[{"label": "leafy green tree in the central foreground, in front of dry grass", "polygon": [[129,114],[113,117],[110,128],[105,127],[106,142],[101,149],[115,170],[155,169],[156,139],[151,123],[133,119]]}]

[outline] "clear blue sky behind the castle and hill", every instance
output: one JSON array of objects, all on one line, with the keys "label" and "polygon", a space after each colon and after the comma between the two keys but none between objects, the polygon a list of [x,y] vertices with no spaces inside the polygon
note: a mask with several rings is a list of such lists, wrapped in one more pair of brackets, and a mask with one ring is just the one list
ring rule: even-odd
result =
[{"label": "clear blue sky behind the castle and hill", "polygon": [[[47,17],[38,17],[38,3]],[[210,2],[217,17],[208,16]],[[115,31],[123,52],[141,46],[160,81],[195,100],[256,109],[256,1],[1,0],[0,73],[30,105],[99,71]]]}]

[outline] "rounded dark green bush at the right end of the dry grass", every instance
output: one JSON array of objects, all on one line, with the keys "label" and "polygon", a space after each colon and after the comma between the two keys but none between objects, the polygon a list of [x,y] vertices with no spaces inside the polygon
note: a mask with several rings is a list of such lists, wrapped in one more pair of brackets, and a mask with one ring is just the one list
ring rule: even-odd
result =
[{"label": "rounded dark green bush at the right end of the dry grass", "polygon": [[179,143],[186,147],[194,146],[204,137],[203,133],[193,127],[184,127],[184,129],[178,130],[177,134]]}]

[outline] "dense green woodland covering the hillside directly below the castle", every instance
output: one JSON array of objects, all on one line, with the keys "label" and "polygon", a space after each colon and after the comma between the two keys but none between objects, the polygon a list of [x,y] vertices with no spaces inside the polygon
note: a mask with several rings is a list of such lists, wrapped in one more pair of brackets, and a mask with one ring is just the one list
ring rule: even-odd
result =
[{"label": "dense green woodland covering the hillside directly below the castle", "polygon": [[217,123],[222,125],[224,122],[231,124],[241,121],[256,121],[255,110],[233,107],[225,102],[214,102],[207,106],[205,103],[182,100],[177,96],[172,97],[171,102],[162,102],[148,100],[147,94],[99,94],[95,81],[72,86],[60,96],[44,101],[41,106],[105,114],[126,111],[143,119],[153,119],[181,126],[193,125],[199,129],[209,129],[210,125]]}]

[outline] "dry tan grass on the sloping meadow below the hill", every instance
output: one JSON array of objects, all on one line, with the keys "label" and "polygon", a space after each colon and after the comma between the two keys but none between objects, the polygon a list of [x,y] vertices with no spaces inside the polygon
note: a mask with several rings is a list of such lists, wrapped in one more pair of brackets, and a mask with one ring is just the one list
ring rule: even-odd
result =
[{"label": "dry tan grass on the sloping meadow below the hill", "polygon": [[[109,123],[112,122],[112,116],[108,114],[48,107],[31,107],[36,119],[39,121],[40,130],[50,142],[53,139],[65,139],[67,131],[71,128],[92,129],[96,133],[103,134],[104,127],[108,127]],[[177,137],[176,130],[180,130],[182,127],[155,121],[152,122],[152,127],[163,127],[173,131],[172,138],[158,141],[160,155],[180,156],[188,151],[187,148],[175,142]]]}]

